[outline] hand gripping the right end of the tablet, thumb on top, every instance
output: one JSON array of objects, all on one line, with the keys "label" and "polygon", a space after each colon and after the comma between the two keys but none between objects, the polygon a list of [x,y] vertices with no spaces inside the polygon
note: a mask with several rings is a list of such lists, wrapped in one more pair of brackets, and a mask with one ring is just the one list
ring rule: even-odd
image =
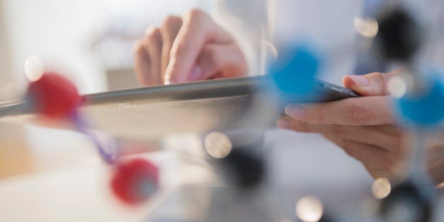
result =
[{"label": "hand gripping the right end of the tablet, thumb on top", "polygon": [[350,75],[343,85],[364,97],[321,104],[290,104],[281,128],[318,132],[364,164],[374,178],[401,179],[407,162],[408,137],[395,123],[388,80],[397,73]]}]

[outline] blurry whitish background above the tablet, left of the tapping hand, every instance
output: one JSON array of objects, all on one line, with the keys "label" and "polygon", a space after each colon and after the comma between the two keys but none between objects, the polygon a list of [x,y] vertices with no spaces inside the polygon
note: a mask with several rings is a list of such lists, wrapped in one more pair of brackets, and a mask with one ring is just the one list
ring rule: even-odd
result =
[{"label": "blurry whitish background above the tablet, left of the tapping hand", "polygon": [[0,100],[17,98],[26,85],[23,65],[37,56],[61,70],[83,94],[136,87],[132,44],[150,25],[199,0],[0,1]]}]

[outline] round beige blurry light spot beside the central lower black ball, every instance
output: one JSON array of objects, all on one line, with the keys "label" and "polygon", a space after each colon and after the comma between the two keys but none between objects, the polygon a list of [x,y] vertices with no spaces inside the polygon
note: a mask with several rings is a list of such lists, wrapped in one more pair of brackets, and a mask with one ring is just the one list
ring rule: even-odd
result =
[{"label": "round beige blurry light spot beside the central lower black ball", "polygon": [[233,148],[230,138],[221,132],[210,132],[206,135],[204,146],[206,152],[217,159],[228,156]]}]

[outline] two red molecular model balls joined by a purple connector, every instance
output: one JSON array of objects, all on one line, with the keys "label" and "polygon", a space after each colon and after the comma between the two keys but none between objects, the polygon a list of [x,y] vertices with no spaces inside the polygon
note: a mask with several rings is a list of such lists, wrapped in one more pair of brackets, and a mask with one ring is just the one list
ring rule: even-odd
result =
[{"label": "two red molecular model balls joined by a purple connector", "polygon": [[73,82],[58,73],[46,72],[30,83],[26,99],[35,113],[47,118],[68,119],[77,130],[91,138],[101,158],[114,166],[111,188],[118,199],[126,204],[138,204],[156,192],[159,171],[154,164],[144,159],[118,161],[86,129],[86,124],[77,115],[81,97]]}]

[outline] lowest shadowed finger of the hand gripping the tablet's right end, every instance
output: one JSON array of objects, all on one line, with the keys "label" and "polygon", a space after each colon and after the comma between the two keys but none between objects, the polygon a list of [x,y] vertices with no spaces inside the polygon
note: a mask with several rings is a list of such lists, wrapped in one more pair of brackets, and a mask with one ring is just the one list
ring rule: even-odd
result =
[{"label": "lowest shadowed finger of the hand gripping the tablet's right end", "polygon": [[324,137],[337,144],[348,155],[361,161],[366,168],[393,172],[400,161],[400,158],[395,154],[387,152],[386,149],[382,149],[381,147],[341,139],[334,135],[324,135]]}]

